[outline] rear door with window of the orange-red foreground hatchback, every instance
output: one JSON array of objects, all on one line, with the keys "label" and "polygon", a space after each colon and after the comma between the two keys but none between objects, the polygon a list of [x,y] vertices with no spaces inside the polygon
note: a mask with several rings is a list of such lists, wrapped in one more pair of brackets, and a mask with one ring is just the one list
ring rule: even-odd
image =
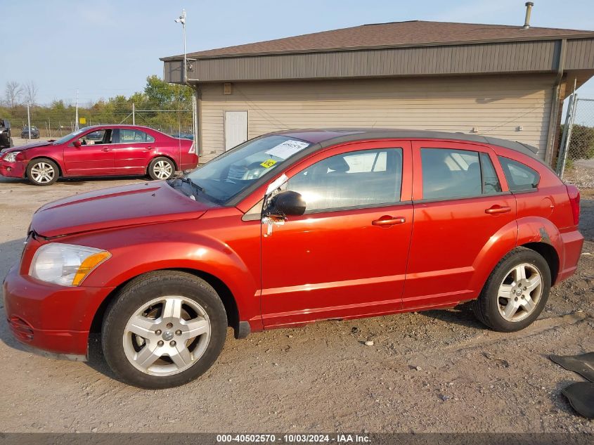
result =
[{"label": "rear door with window of the orange-red foreground hatchback", "polygon": [[413,160],[415,227],[403,307],[477,297],[477,269],[515,244],[506,237],[516,232],[516,202],[496,156],[470,143],[413,141]]}]

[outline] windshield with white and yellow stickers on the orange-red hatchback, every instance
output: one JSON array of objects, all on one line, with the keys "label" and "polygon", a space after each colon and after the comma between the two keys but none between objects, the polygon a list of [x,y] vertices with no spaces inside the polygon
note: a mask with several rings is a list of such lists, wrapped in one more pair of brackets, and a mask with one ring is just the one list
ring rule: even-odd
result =
[{"label": "windshield with white and yellow stickers on the orange-red hatchback", "polygon": [[288,136],[252,139],[186,175],[215,202],[233,198],[311,144]]}]

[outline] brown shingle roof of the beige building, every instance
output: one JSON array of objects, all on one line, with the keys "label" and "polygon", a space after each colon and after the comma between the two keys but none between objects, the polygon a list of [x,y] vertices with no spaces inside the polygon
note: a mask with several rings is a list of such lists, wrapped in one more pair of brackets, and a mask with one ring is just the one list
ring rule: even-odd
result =
[{"label": "brown shingle roof of the beige building", "polygon": [[[473,23],[410,22],[377,23],[342,30],[314,32],[285,39],[259,41],[189,53],[188,57],[240,56],[244,54],[323,51],[382,46],[419,46],[424,44],[458,44],[474,41],[534,40],[555,37],[594,37],[592,31]],[[172,58],[179,58],[174,56]]]}]

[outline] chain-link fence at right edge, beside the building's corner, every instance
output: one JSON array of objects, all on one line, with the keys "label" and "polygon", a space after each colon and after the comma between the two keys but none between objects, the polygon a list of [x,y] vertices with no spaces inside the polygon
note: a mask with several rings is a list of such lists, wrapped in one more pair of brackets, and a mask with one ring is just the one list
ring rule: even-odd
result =
[{"label": "chain-link fence at right edge, beside the building's corner", "polygon": [[578,187],[594,187],[594,99],[569,98],[557,174]]}]

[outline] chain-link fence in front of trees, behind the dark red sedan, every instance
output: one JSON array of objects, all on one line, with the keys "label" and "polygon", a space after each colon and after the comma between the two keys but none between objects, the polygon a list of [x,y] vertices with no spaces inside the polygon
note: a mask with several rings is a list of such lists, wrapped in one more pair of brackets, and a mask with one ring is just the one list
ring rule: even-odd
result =
[{"label": "chain-link fence in front of trees, behind the dark red sedan", "polygon": [[[4,112],[0,119],[11,122],[11,134],[15,143],[18,139],[28,138],[27,122],[34,129],[32,137],[55,139],[71,133],[76,128],[75,110],[52,110],[32,107],[27,116],[27,108],[15,108]],[[79,128],[91,125],[136,124],[150,127],[174,136],[193,134],[191,110],[135,110],[133,108],[96,112],[91,109],[79,109]]]}]

